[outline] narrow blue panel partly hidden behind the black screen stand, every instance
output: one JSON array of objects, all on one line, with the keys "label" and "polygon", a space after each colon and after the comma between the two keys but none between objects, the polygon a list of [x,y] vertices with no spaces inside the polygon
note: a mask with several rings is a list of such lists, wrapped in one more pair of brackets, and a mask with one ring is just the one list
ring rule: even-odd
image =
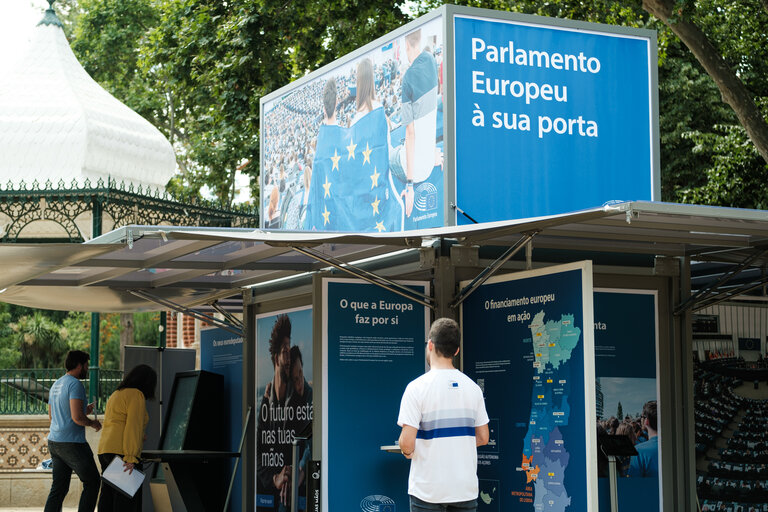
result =
[{"label": "narrow blue panel partly hidden behind the black screen stand", "polygon": [[[240,449],[243,431],[243,338],[224,329],[200,331],[200,369],[224,376],[225,409],[229,412],[227,450]],[[253,419],[253,418],[252,418]],[[232,462],[234,466],[234,462]],[[238,471],[232,488],[229,510],[241,510],[242,476]]]}]

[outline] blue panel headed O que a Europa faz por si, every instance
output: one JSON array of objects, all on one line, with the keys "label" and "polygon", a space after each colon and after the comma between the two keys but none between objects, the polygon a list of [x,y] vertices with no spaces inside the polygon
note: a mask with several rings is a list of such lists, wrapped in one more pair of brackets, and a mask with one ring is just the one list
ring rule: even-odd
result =
[{"label": "blue panel headed O que a Europa faz por si", "polygon": [[[422,294],[427,283],[403,283]],[[429,310],[357,280],[323,280],[323,510],[407,512],[396,442],[405,387],[424,373]]]}]

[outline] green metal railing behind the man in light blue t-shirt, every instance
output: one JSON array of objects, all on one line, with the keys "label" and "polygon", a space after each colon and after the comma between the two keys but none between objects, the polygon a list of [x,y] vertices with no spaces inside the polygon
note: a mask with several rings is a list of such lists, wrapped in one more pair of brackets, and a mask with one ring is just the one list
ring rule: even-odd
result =
[{"label": "green metal railing behind the man in light blue t-shirt", "polygon": [[[48,414],[48,391],[64,368],[0,370],[0,414]],[[96,410],[104,412],[109,395],[123,378],[122,370],[99,370]],[[88,389],[88,381],[83,385]]]}]

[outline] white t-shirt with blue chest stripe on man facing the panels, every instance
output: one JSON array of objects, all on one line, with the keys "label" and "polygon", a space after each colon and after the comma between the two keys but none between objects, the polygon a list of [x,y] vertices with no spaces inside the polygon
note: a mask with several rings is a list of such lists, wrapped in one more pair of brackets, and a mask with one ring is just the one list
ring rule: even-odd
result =
[{"label": "white t-shirt with blue chest stripe on man facing the panels", "polygon": [[428,503],[477,498],[475,427],[488,423],[480,387],[456,369],[432,369],[405,388],[397,424],[419,429],[408,494]]}]

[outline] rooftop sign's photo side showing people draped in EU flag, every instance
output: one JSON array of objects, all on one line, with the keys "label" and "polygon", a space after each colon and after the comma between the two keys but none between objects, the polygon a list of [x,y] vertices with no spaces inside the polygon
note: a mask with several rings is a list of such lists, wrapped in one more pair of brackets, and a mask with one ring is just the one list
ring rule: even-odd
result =
[{"label": "rooftop sign's photo side showing people draped in EU flag", "polygon": [[443,27],[433,18],[262,101],[262,227],[443,225]]}]

